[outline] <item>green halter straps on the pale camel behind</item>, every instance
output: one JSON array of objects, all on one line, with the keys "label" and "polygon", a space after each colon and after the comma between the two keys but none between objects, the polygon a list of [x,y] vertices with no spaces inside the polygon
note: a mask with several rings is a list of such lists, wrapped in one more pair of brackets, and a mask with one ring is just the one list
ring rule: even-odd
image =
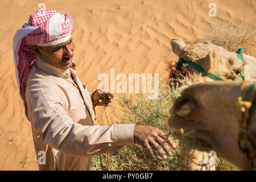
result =
[{"label": "green halter straps on the pale camel behind", "polygon": [[[240,59],[241,61],[243,61],[243,58],[242,58],[242,55],[241,55],[242,49],[243,49],[243,48],[241,47],[241,48],[239,48],[239,49],[237,50],[237,52],[236,52],[238,59]],[[218,75],[216,75],[216,74],[214,74],[214,73],[208,73],[208,72],[206,72],[206,71],[204,70],[204,68],[201,67],[200,65],[195,64],[195,63],[193,63],[192,61],[189,61],[189,60],[186,61],[186,60],[184,60],[184,59],[182,59],[182,58],[180,58],[180,59],[178,60],[176,69],[181,69],[181,67],[183,66],[184,63],[185,63],[185,64],[188,64],[189,66],[191,66],[191,67],[193,67],[193,68],[195,68],[197,72],[199,72],[199,73],[202,74],[202,76],[207,76],[208,78],[210,78],[210,79],[212,79],[212,80],[215,80],[215,81],[218,81],[218,80],[226,81],[226,79],[224,79],[224,78],[222,78],[222,77],[220,77],[220,76],[218,76]],[[244,72],[241,72],[241,77],[232,78],[232,79],[229,79],[229,80],[230,80],[230,81],[237,81],[237,80],[238,80],[238,81],[242,81],[242,78],[245,79],[245,73],[244,73]]]}]

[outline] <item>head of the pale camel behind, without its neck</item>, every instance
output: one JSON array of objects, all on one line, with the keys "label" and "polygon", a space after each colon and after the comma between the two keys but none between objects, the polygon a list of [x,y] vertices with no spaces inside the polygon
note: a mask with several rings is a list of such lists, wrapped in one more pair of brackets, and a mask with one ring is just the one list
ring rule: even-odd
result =
[{"label": "head of the pale camel behind, without its neck", "polygon": [[[171,45],[172,50],[179,56],[179,59],[199,65],[204,69],[205,75],[213,73],[224,80],[234,80],[240,78],[244,71],[245,61],[240,60],[236,52],[229,52],[209,42],[185,44],[180,38],[172,38]],[[184,65],[188,72],[199,75],[198,69],[190,64],[187,65],[187,63],[183,63],[183,67]],[[170,74],[170,77],[173,75]],[[213,81],[214,79],[203,74],[203,77],[197,80],[203,82]],[[217,78],[217,80],[220,79]]]}]

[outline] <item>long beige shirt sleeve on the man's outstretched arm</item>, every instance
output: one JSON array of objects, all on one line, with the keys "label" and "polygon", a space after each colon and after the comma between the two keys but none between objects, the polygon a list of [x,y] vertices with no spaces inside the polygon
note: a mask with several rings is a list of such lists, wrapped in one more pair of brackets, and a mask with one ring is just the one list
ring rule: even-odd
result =
[{"label": "long beige shirt sleeve on the man's outstretched arm", "polygon": [[31,80],[26,96],[36,134],[42,142],[64,154],[94,156],[115,152],[125,144],[134,144],[134,125],[84,126],[73,122],[51,80]]}]

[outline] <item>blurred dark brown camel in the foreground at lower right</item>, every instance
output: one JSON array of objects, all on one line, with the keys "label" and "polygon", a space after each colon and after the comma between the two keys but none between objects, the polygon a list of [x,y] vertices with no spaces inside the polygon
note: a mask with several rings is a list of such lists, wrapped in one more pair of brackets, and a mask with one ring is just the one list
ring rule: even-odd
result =
[{"label": "blurred dark brown camel in the foreground at lower right", "polygon": [[255,91],[249,81],[192,85],[174,102],[168,126],[206,142],[207,153],[214,150],[240,169],[256,170]]}]

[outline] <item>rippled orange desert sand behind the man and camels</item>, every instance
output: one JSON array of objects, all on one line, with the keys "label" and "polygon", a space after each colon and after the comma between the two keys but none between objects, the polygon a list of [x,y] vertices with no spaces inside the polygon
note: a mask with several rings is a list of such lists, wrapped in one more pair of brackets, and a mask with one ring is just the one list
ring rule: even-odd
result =
[{"label": "rippled orange desert sand behind the man and camels", "polygon": [[[0,1],[0,170],[38,170],[31,125],[24,115],[13,60],[13,36],[28,22],[31,13],[55,9],[74,20],[73,42],[77,74],[89,92],[100,81],[97,76],[110,69],[117,73],[159,73],[166,76],[166,61],[177,59],[170,38],[185,42],[200,39],[206,26],[255,18],[253,0],[93,0],[93,1]],[[210,17],[209,3],[217,5]],[[254,55],[255,56],[255,55]],[[116,101],[115,101],[116,102]],[[108,108],[120,109],[117,103]],[[105,117],[98,108],[100,117]],[[117,122],[113,119],[112,123]],[[104,118],[105,119],[105,118]],[[106,123],[106,121],[104,122]]]}]

